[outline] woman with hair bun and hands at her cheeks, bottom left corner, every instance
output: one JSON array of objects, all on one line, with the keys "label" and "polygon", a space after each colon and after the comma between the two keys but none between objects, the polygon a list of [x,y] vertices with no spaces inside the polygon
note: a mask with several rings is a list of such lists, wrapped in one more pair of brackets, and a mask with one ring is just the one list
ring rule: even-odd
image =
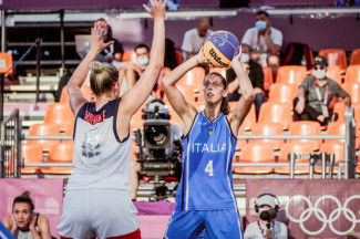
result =
[{"label": "woman with hair bun and hands at her cheeks, bottom left corner", "polygon": [[34,212],[34,206],[29,191],[16,197],[12,202],[12,214],[3,219],[3,225],[19,239],[50,239],[50,226],[45,216]]}]

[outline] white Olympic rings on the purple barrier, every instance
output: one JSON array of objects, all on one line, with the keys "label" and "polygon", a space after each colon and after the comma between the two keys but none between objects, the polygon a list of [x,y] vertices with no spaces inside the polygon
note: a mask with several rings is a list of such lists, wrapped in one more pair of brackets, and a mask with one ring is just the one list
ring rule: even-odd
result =
[{"label": "white Olympic rings on the purple barrier", "polygon": [[[288,216],[288,218],[294,221],[294,222],[297,222],[299,224],[301,230],[308,235],[311,235],[311,236],[315,236],[315,235],[319,235],[321,233],[327,225],[329,225],[329,228],[331,229],[331,231],[336,235],[339,235],[339,236],[344,236],[344,235],[348,235],[349,232],[351,232],[354,227],[357,226],[357,224],[360,224],[360,219],[357,219],[357,216],[356,214],[350,210],[348,208],[348,205],[349,202],[352,200],[352,199],[360,199],[360,195],[352,195],[351,197],[349,197],[344,204],[343,204],[343,207],[341,206],[341,202],[339,201],[339,199],[335,196],[331,196],[331,195],[323,195],[321,196],[320,198],[318,198],[318,200],[315,202],[315,205],[312,206],[311,201],[309,198],[307,198],[306,196],[302,196],[302,195],[296,195],[296,196],[292,196],[286,204],[286,207],[285,207],[285,210],[286,210],[286,214]],[[308,205],[308,208],[305,209],[301,214],[300,214],[300,217],[299,218],[295,218],[292,217],[290,214],[289,214],[289,205],[291,204],[292,200],[301,200],[304,199],[307,205]],[[329,215],[329,218],[327,217],[327,215],[325,214],[325,211],[319,208],[319,204],[325,200],[325,199],[331,199],[336,202],[337,205],[337,208],[335,210],[331,211],[331,214]],[[351,227],[349,228],[349,230],[347,231],[339,231],[337,230],[335,227],[333,227],[333,222],[336,220],[339,219],[341,212],[343,214],[343,216],[346,217],[347,220],[349,220],[351,222]],[[317,231],[310,231],[308,230],[306,227],[305,227],[305,221],[307,221],[311,215],[315,215],[315,217],[322,222],[322,226],[319,230]]]}]

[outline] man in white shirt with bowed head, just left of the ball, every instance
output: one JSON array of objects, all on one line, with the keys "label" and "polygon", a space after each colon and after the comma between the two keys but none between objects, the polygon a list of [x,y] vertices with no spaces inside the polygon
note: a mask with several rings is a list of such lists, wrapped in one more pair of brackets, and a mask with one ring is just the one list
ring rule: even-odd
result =
[{"label": "man in white shirt with bowed head, just left of the ball", "polygon": [[213,33],[207,18],[202,18],[195,29],[185,32],[182,45],[184,59],[188,60],[202,49],[205,39]]}]

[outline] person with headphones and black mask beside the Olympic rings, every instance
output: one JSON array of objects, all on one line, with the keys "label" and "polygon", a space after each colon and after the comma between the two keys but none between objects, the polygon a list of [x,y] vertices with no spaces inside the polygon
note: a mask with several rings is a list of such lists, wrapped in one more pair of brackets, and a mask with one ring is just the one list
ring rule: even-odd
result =
[{"label": "person with headphones and black mask beside the Olympic rings", "polygon": [[244,239],[287,239],[288,230],[286,225],[275,220],[278,209],[279,201],[275,195],[259,195],[255,202],[255,211],[259,215],[259,219],[246,227]]}]

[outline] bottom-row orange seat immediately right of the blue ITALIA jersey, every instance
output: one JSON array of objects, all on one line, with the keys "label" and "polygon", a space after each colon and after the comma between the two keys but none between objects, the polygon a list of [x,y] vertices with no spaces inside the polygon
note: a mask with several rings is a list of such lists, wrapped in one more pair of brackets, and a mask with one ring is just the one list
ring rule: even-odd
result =
[{"label": "bottom-row orange seat immediately right of the blue ITALIA jersey", "polygon": [[[246,144],[241,149],[239,163],[274,163],[274,152],[267,144]],[[272,167],[234,167],[236,174],[270,174]]]}]

